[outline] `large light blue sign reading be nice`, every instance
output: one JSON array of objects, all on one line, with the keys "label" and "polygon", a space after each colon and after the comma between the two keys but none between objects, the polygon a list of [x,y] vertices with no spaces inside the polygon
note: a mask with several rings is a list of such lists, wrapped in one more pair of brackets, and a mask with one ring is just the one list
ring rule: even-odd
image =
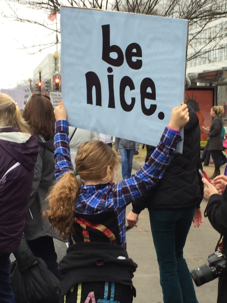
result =
[{"label": "large light blue sign reading be nice", "polygon": [[157,145],[172,108],[184,102],[188,22],[85,8],[60,12],[70,125]]}]

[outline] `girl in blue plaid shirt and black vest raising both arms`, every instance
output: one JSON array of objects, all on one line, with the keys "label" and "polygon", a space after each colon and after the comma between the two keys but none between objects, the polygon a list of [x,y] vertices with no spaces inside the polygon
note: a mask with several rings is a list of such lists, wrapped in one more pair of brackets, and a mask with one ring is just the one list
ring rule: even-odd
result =
[{"label": "girl in blue plaid shirt and black vest raising both arms", "polygon": [[179,129],[189,120],[187,106],[173,109],[169,127],[149,161],[134,176],[115,184],[117,156],[101,141],[79,146],[73,170],[67,113],[59,103],[54,110],[58,181],[48,195],[49,209],[44,215],[63,238],[70,237],[67,255],[59,263],[61,300],[106,302],[110,297],[111,302],[130,303],[137,265],[126,252],[126,206],[162,177],[181,138]]}]

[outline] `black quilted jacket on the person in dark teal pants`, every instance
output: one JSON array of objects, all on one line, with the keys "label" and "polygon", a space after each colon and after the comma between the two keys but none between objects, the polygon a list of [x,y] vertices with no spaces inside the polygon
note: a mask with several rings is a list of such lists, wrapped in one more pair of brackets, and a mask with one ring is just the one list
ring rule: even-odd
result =
[{"label": "black quilted jacket on the person in dark teal pants", "polygon": [[[148,146],[147,156],[153,151]],[[183,154],[175,154],[158,184],[132,202],[133,212],[148,209],[180,209],[196,206],[203,198],[203,183],[198,173],[200,160],[199,119],[189,106],[189,122],[184,127]]]}]

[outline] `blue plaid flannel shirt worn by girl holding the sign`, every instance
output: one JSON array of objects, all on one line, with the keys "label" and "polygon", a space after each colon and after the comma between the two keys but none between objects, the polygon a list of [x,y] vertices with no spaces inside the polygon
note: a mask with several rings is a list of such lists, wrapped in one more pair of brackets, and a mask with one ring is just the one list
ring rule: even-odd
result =
[{"label": "blue plaid flannel shirt worn by girl holding the sign", "polygon": [[[121,245],[126,249],[126,206],[143,192],[153,187],[162,178],[167,165],[172,160],[178,140],[178,133],[165,128],[158,146],[135,175],[117,184],[81,185],[79,197],[75,201],[75,211],[83,214],[94,214],[111,208],[117,215]],[[70,158],[68,122],[55,122],[54,136],[55,177],[58,178],[66,171],[73,170]]]}]

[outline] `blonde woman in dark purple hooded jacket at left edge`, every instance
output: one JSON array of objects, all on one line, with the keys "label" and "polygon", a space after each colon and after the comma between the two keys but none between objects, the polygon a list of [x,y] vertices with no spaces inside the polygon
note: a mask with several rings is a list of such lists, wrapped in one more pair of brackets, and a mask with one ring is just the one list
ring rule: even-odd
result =
[{"label": "blonde woman in dark purple hooded jacket at left edge", "polygon": [[25,227],[38,138],[14,100],[0,93],[0,302],[15,303],[8,274]]}]

